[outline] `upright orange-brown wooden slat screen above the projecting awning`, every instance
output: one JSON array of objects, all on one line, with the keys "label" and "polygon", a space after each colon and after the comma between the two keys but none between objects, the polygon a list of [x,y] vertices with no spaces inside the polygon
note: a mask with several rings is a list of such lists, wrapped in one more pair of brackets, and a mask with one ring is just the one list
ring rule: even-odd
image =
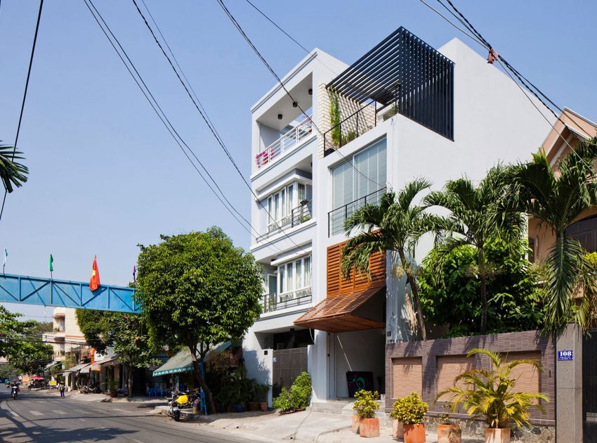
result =
[{"label": "upright orange-brown wooden slat screen above the projecting awning", "polygon": [[385,253],[376,253],[369,259],[370,281],[367,274],[356,274],[354,271],[350,272],[348,278],[344,278],[341,273],[341,251],[344,243],[346,242],[327,248],[327,297],[336,297],[336,295],[366,289],[370,285],[386,283]]}]

